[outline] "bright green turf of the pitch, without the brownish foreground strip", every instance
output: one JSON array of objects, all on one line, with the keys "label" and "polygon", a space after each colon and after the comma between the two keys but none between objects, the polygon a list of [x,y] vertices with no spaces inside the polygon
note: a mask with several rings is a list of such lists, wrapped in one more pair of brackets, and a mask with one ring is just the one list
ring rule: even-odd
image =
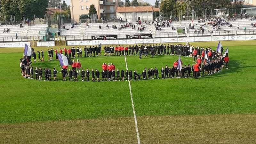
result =
[{"label": "bright green turf of the pitch, without the brownish foreground strip", "polygon": [[[218,42],[191,43],[216,49]],[[218,74],[186,79],[131,81],[136,116],[208,115],[256,113],[255,41],[225,41],[229,48],[229,69]],[[59,68],[57,60],[33,63],[33,67]],[[54,47],[59,48],[59,47]],[[66,46],[68,48],[68,46]],[[20,76],[19,59],[23,48],[0,49],[0,123],[56,121],[133,116],[129,85],[118,82],[38,81]],[[160,70],[177,56],[127,56],[128,69],[141,73],[144,67]],[[82,68],[101,69],[113,62],[126,69],[124,57],[79,58]],[[183,64],[192,58],[181,57]],[[80,76],[78,78],[81,79]],[[90,78],[91,80],[91,78]]]}]

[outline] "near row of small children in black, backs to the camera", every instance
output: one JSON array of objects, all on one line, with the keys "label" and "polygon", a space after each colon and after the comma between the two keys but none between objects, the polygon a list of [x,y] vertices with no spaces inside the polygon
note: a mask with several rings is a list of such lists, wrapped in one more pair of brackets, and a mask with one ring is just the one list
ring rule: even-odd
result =
[{"label": "near row of small children in black, backs to the camera", "polygon": [[[197,77],[201,76],[201,72],[202,72],[202,76],[205,75],[212,75],[213,73],[217,73],[220,72],[220,69],[222,68],[222,62],[221,60],[219,61],[214,61],[212,63],[204,63],[202,66],[200,66],[198,63],[193,64],[192,67],[190,66],[190,64],[188,64],[188,66],[184,65],[184,67],[182,67],[181,69],[177,68],[177,61],[173,63],[173,67],[168,67],[167,65],[161,68],[161,78],[187,78],[190,77],[191,75],[191,71],[192,71],[192,76],[195,77],[197,79]],[[25,78],[30,78],[34,79],[34,69],[33,67],[23,67],[22,69],[22,75]],[[53,77],[54,80],[57,80],[57,70],[55,68],[53,68],[53,72],[51,71],[51,69],[49,68],[45,68],[44,69],[44,77],[45,80],[44,81],[50,81],[52,80],[52,73],[53,73]],[[69,71],[67,71],[66,68],[61,68],[61,73],[62,73],[62,80],[66,81],[66,76],[69,77],[69,81],[78,81],[77,79],[77,71],[76,69],[69,69]],[[35,74],[36,74],[36,79],[38,78],[38,80],[42,80],[42,75],[43,75],[43,69],[41,68],[37,68],[35,69]],[[124,71],[123,69],[121,71],[119,71],[119,69],[117,69],[115,71],[115,69],[107,69],[107,70],[102,70],[101,72],[101,77],[102,77],[102,81],[124,81],[124,80],[132,80],[132,77],[134,78],[134,80],[140,80],[140,77],[142,76],[142,80],[145,79],[154,79],[154,78],[158,78],[159,72],[158,69],[155,68],[144,68],[144,70],[142,71],[142,73],[137,73],[137,70],[134,70],[132,72],[132,70],[128,71]],[[95,69],[92,69],[91,71],[89,71],[88,68],[86,68],[86,70],[82,69],[81,71],[81,78],[82,81],[89,81],[89,77],[90,75],[92,76],[92,81],[95,82],[95,77],[97,78],[97,81],[100,81],[100,72]],[[121,79],[120,79],[121,76]],[[147,77],[148,76],[148,77]],[[86,80],[85,80],[86,78]]]}]

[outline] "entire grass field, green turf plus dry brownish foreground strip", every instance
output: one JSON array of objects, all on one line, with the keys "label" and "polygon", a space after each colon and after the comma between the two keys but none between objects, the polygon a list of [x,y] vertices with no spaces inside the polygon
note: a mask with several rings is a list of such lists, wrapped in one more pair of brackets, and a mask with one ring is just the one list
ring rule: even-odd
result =
[{"label": "entire grass field, green turf plus dry brownish foreground strip", "polygon": [[[215,50],[218,42],[190,44]],[[131,92],[128,81],[25,79],[19,68],[24,48],[0,48],[0,143],[256,143],[256,42],[222,45],[228,46],[228,69],[197,80],[131,81]],[[33,48],[46,56],[48,47]],[[128,69],[139,73],[177,59],[126,57]],[[47,60],[32,66],[59,67],[57,60]],[[123,56],[79,60],[82,68],[101,71],[103,62],[113,62],[126,69]],[[181,60],[193,63],[190,57]]]}]

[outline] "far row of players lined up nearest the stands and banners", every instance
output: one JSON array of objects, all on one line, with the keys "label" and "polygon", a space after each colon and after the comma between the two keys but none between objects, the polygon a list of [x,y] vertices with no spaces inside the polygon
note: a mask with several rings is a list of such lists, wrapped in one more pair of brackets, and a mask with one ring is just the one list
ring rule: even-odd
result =
[{"label": "far row of players lined up nearest the stands and banners", "polygon": [[[196,51],[195,51],[196,50]],[[200,54],[202,54],[206,50],[206,54],[208,57],[214,56],[217,52],[210,47],[208,48],[203,48],[203,47],[194,47],[190,45],[182,45],[182,44],[147,44],[147,45],[129,45],[129,46],[120,46],[116,45],[115,47],[112,46],[105,46],[104,47],[104,56],[122,56],[122,55],[144,55],[147,56],[152,55],[166,55],[166,54],[171,54],[171,55],[182,55],[182,56],[190,56],[190,57],[199,57]],[[63,52],[64,51],[64,52]],[[82,48],[80,47],[71,47],[66,49],[66,48],[60,48],[59,51],[56,49],[55,51],[53,49],[48,49],[48,60],[53,60],[53,53],[55,53],[55,58],[58,60],[57,53],[65,54],[65,56],[71,58],[76,58],[76,57],[83,57],[83,51]],[[223,48],[221,48],[221,53],[223,52]],[[44,51],[41,50],[41,52],[37,51],[38,53],[38,61],[44,61]],[[129,54],[128,54],[129,53]],[[84,46],[84,57],[92,57],[92,56],[101,56],[101,46]],[[42,59],[41,59],[42,57]],[[36,53],[33,53],[33,58],[34,62],[36,62]]]}]

